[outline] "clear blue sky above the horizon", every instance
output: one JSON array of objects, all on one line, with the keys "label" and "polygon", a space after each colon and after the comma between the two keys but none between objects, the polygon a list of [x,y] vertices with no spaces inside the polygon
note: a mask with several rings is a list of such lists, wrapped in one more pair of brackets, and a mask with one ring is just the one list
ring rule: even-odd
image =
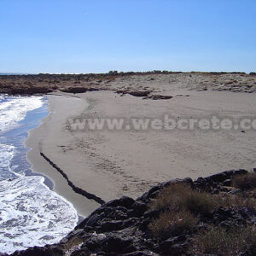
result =
[{"label": "clear blue sky above the horizon", "polygon": [[0,0],[0,73],[256,72],[256,0]]}]

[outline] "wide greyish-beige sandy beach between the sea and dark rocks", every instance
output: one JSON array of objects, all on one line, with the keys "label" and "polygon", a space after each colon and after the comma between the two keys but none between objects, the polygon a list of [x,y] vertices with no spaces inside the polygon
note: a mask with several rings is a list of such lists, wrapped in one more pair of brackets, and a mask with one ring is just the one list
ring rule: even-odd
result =
[{"label": "wide greyish-beige sandy beach between the sea and dark rocks", "polygon": [[[256,131],[73,131],[70,118],[256,117],[255,95],[229,91],[196,91],[197,82],[184,86],[150,77],[112,84],[130,89],[142,84],[170,100],[143,100],[112,91],[49,96],[50,114],[30,133],[28,159],[35,172],[55,181],[55,191],[87,215],[97,206],[68,189],[67,182],[42,159],[43,152],[79,188],[104,201],[129,195],[136,198],[150,186],[175,177],[200,177],[230,169],[256,167]],[[169,78],[168,78],[169,79]],[[191,79],[191,78],[188,78]],[[148,83],[150,80],[150,83]],[[129,85],[130,84],[130,85]],[[199,83],[198,83],[199,84]],[[83,205],[85,203],[85,205]],[[88,205],[86,205],[88,204]]]}]

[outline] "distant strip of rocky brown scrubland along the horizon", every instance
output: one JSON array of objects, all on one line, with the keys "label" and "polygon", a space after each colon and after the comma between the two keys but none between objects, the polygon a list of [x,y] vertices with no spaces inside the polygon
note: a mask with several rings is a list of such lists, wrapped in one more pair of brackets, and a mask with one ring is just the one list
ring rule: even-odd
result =
[{"label": "distant strip of rocky brown scrubland along the horizon", "polygon": [[139,97],[147,97],[151,94],[154,95],[155,100],[165,100],[166,96],[158,96],[158,94],[166,91],[167,84],[168,87],[170,85],[170,90],[172,85],[176,88],[177,84],[182,84],[181,88],[188,90],[256,92],[255,73],[181,73],[154,70],[143,73],[112,71],[109,73],[0,75],[0,93],[10,95],[46,94],[58,90],[69,93],[110,90]]}]

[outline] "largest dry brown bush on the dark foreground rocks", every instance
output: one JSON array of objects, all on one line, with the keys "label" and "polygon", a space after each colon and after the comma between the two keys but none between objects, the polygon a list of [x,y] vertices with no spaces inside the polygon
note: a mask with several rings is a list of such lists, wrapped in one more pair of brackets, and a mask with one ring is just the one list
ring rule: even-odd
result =
[{"label": "largest dry brown bush on the dark foreground rocks", "polygon": [[193,190],[187,184],[173,183],[152,201],[151,209],[160,210],[160,216],[154,218],[148,229],[160,237],[192,231],[198,222],[196,213],[207,214],[216,207],[218,201],[212,195]]}]

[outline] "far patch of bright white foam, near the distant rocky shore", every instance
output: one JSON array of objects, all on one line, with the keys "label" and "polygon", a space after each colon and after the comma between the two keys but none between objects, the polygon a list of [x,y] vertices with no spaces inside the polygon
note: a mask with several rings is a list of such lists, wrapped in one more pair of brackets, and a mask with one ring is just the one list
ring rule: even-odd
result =
[{"label": "far patch of bright white foam, near the distant rocky shore", "polygon": [[[0,104],[0,133],[14,127],[20,120],[26,117],[26,113],[43,106],[43,97],[20,96],[4,98]],[[0,99],[0,100],[3,100]]]}]

